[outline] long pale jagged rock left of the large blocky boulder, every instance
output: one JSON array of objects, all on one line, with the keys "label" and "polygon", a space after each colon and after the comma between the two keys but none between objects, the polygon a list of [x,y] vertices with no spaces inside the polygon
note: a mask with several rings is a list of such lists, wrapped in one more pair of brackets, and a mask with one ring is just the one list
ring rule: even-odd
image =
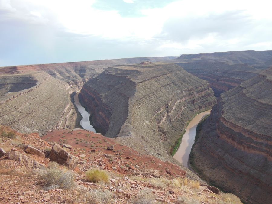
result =
[{"label": "long pale jagged rock left of the large blocky boulder", "polygon": [[21,154],[18,151],[9,151],[6,155],[9,159],[18,161],[20,164],[24,165],[27,168],[38,168],[38,169],[45,168],[44,164],[41,164],[37,162],[36,160],[33,160],[29,158],[28,156]]}]

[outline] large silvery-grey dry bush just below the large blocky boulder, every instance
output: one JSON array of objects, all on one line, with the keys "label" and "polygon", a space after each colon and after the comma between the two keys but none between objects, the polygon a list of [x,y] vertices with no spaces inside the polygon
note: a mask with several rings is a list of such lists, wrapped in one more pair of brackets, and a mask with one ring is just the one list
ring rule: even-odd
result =
[{"label": "large silvery-grey dry bush just below the large blocky boulder", "polygon": [[62,188],[72,189],[75,186],[75,175],[72,171],[61,169],[57,162],[50,162],[46,170],[40,175],[46,190]]}]

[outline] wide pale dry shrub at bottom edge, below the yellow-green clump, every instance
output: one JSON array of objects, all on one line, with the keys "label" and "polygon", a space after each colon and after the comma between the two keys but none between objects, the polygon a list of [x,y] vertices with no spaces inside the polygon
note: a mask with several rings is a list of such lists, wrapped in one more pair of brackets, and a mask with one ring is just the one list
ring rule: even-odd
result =
[{"label": "wide pale dry shrub at bottom edge, below the yellow-green clump", "polygon": [[95,189],[91,192],[79,191],[75,202],[86,204],[108,204],[112,201],[112,193],[109,190]]}]

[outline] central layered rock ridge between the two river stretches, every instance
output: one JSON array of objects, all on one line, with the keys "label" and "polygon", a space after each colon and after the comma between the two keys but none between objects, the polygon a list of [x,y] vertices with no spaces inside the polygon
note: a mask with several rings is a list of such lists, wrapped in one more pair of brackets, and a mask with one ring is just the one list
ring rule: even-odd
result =
[{"label": "central layered rock ridge between the two river stretches", "polygon": [[102,134],[157,156],[169,156],[187,121],[215,103],[206,81],[173,63],[108,68],[80,97]]}]

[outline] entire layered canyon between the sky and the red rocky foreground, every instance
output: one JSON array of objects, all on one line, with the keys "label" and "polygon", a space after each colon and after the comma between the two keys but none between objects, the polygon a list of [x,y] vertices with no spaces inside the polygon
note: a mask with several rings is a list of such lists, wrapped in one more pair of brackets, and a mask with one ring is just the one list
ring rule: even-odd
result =
[{"label": "entire layered canyon between the sky and the red rocky foreground", "polygon": [[[66,130],[82,128],[85,108],[85,121],[109,144],[178,165],[188,178],[246,203],[267,204],[271,59],[272,51],[250,50],[0,67],[0,124],[54,142],[71,137],[82,149],[75,139],[80,131],[69,136]],[[190,155],[197,176],[171,153],[188,122],[211,108]]]}]

